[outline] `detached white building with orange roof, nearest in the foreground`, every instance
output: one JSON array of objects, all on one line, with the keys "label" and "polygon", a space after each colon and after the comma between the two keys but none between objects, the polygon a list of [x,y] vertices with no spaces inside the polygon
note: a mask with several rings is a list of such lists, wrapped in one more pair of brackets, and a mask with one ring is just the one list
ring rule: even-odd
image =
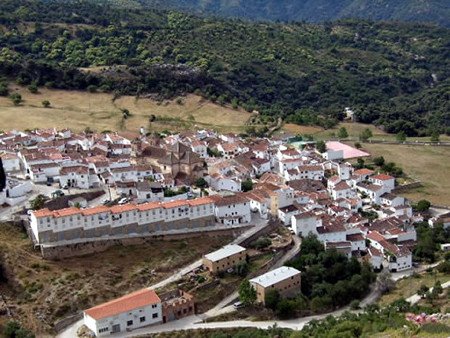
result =
[{"label": "detached white building with orange roof, nearest in the foreground", "polygon": [[142,289],[84,311],[84,324],[97,337],[161,322],[161,300],[150,289]]}]

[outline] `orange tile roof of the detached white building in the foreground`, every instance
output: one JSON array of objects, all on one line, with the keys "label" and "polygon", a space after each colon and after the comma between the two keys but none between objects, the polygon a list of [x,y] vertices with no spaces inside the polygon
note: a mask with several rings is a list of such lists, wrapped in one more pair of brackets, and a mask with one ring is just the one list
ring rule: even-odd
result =
[{"label": "orange tile roof of the detached white building in the foreground", "polygon": [[142,289],[107,303],[94,306],[84,312],[90,317],[99,320],[158,303],[161,303],[161,299],[159,299],[155,291]]}]

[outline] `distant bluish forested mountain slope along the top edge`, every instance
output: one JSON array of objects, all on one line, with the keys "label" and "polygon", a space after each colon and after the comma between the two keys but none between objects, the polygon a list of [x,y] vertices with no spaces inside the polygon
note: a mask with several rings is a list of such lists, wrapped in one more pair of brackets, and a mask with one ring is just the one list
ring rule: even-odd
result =
[{"label": "distant bluish forested mountain slope along the top edge", "polygon": [[434,22],[450,26],[448,0],[108,0],[252,20],[321,22],[342,18]]}]

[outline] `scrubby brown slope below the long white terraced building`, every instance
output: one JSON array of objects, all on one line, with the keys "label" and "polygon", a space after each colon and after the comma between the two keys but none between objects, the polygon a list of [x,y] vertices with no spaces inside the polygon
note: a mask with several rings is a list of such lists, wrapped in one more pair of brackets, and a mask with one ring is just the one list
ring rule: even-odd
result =
[{"label": "scrubby brown slope below the long white terraced building", "polygon": [[[33,251],[27,235],[0,225],[0,262],[8,283],[0,293],[23,324],[39,334],[68,314],[89,308],[130,291],[150,286],[177,268],[195,261],[231,240],[192,238],[117,246],[73,259],[44,261]],[[0,316],[0,323],[6,317]]]}]

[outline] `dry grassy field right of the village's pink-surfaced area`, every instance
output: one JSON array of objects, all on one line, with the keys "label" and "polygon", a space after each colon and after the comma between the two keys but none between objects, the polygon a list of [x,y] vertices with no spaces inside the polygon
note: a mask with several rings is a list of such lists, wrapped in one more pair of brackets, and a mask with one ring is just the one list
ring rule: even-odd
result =
[{"label": "dry grassy field right of the village's pink-surfaced area", "polygon": [[363,148],[372,156],[397,163],[408,176],[422,182],[423,187],[402,192],[402,196],[450,206],[450,147],[365,143]]}]

